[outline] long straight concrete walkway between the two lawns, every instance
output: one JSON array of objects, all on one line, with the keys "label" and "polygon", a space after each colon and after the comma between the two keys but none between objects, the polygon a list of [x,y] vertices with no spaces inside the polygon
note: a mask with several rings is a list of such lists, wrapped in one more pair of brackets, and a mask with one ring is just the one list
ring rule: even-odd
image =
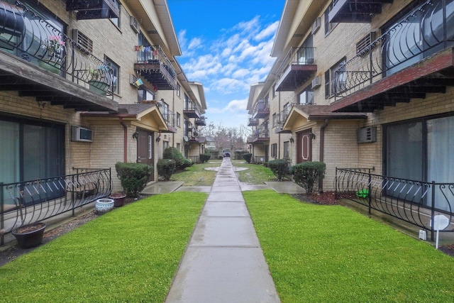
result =
[{"label": "long straight concrete walkway between the two lawns", "polygon": [[230,158],[216,175],[165,302],[280,302]]}]

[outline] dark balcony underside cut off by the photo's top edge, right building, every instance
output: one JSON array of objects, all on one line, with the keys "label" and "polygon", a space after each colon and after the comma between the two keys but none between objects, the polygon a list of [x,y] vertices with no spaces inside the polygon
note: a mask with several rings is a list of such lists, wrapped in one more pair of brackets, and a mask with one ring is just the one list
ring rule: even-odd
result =
[{"label": "dark balcony underside cut off by the photo's top edge, right building", "polygon": [[333,0],[329,21],[334,23],[370,23],[372,15],[382,13],[383,4],[393,0]]}]

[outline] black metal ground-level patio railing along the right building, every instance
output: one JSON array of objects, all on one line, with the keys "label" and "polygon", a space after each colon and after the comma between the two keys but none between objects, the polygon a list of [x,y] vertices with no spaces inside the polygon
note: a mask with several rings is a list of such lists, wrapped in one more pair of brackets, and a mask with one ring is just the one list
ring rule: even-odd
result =
[{"label": "black metal ground-level patio railing along the right building", "polygon": [[336,198],[350,199],[383,214],[431,231],[438,214],[448,216],[454,231],[454,184],[373,175],[371,169],[336,168]]}]

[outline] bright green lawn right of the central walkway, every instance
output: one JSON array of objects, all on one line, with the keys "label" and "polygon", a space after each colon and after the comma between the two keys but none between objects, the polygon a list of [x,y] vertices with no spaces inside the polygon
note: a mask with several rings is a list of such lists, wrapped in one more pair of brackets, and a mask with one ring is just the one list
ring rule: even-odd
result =
[{"label": "bright green lawn right of the central walkway", "polygon": [[344,206],[243,192],[282,302],[454,302],[454,259]]}]

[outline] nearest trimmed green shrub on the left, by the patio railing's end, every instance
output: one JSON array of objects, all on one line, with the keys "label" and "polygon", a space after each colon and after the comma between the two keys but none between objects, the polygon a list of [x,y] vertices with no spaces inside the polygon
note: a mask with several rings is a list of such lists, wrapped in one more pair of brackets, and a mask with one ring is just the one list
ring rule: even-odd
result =
[{"label": "nearest trimmed green shrub on the left, by the patio railing's end", "polygon": [[153,166],[142,163],[116,162],[116,174],[121,181],[123,191],[129,197],[137,197],[145,188],[148,177],[153,173]]}]

